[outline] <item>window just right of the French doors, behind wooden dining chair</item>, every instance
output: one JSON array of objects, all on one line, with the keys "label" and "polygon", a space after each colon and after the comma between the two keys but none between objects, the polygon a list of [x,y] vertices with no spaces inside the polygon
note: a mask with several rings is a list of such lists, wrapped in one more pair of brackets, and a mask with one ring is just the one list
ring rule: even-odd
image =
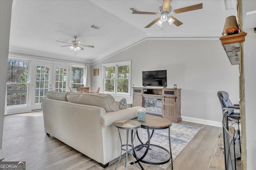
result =
[{"label": "window just right of the French doors, behind wooden dining chair", "polygon": [[84,86],[85,68],[72,66],[71,68],[71,91],[77,91],[78,87]]}]

